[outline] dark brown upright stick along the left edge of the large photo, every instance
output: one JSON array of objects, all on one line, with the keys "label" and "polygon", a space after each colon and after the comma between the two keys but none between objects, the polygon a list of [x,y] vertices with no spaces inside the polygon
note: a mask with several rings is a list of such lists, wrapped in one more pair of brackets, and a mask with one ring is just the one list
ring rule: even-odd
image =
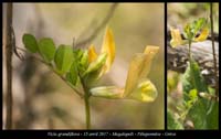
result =
[{"label": "dark brown upright stick along the left edge of the large photo", "polygon": [[13,53],[13,42],[12,42],[12,3],[7,4],[7,41],[6,41],[6,52],[7,52],[7,121],[6,129],[12,129],[12,53]]}]

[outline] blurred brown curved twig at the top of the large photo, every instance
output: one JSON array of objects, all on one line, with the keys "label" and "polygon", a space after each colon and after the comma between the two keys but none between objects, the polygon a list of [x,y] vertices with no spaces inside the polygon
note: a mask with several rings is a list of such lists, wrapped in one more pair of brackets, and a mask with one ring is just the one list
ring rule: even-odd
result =
[{"label": "blurred brown curved twig at the top of the large photo", "polygon": [[97,28],[95,28],[95,30],[93,31],[93,33],[85,40],[76,43],[75,47],[82,47],[85,46],[87,43],[92,42],[97,34],[101,32],[101,30],[103,28],[105,28],[105,25],[107,24],[107,22],[109,21],[109,19],[113,17],[115,9],[117,8],[118,3],[114,3],[109,11],[107,12],[107,15],[104,18],[104,20],[101,22],[99,25],[97,25]]}]

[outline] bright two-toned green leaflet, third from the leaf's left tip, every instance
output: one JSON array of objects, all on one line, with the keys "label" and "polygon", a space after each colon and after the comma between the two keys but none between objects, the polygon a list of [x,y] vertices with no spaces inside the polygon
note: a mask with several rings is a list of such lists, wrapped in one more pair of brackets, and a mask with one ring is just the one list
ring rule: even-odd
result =
[{"label": "bright two-toned green leaflet, third from the leaf's left tip", "polygon": [[70,71],[74,61],[74,53],[71,46],[60,45],[54,55],[54,62],[60,74],[64,74]]}]

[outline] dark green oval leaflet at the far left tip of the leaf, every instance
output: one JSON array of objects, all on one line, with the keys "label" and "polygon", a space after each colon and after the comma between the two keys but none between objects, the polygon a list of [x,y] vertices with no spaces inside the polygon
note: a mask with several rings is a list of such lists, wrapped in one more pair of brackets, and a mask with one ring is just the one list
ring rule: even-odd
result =
[{"label": "dark green oval leaflet at the far left tip of the leaf", "polygon": [[24,34],[22,36],[22,42],[28,51],[32,53],[38,52],[38,42],[32,34]]}]

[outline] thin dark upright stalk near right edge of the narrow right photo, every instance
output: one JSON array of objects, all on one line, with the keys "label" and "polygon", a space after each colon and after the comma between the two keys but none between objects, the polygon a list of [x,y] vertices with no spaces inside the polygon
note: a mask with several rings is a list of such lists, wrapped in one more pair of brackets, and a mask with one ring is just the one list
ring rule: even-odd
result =
[{"label": "thin dark upright stalk near right edge of the narrow right photo", "polygon": [[213,63],[214,63],[214,77],[215,77],[215,95],[219,96],[219,79],[218,79],[218,68],[217,68],[217,57],[215,57],[215,50],[214,50],[214,32],[213,32],[213,18],[212,18],[212,2],[210,3],[210,21],[211,21],[211,40],[212,40],[212,55],[213,55]]}]

